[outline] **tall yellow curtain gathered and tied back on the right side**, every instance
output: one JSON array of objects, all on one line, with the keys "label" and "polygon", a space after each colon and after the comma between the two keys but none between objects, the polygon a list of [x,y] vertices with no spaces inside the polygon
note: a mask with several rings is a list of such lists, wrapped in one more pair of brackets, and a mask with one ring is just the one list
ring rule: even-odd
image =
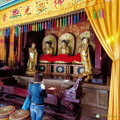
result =
[{"label": "tall yellow curtain gathered and tied back on the right side", "polygon": [[120,120],[120,0],[85,8],[103,48],[112,59],[108,120]]}]

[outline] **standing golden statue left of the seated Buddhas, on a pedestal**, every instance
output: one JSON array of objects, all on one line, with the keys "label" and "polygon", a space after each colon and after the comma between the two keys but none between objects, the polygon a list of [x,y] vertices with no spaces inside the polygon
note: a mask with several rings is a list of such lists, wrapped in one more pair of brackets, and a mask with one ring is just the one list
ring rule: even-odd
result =
[{"label": "standing golden statue left of the seated Buddhas, on a pedestal", "polygon": [[33,76],[36,73],[36,65],[37,65],[37,50],[35,48],[35,43],[31,44],[31,47],[29,48],[29,59],[27,63],[27,71],[26,75]]}]

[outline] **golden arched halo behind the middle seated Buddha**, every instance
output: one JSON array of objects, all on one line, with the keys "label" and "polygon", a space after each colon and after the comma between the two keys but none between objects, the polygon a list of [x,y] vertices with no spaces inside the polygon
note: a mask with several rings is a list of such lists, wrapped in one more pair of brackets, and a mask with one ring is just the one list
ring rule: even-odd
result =
[{"label": "golden arched halo behind the middle seated Buddha", "polygon": [[60,36],[58,40],[58,54],[60,54],[60,48],[62,47],[62,41],[65,40],[68,43],[68,46],[70,47],[70,55],[73,55],[74,52],[74,46],[75,46],[75,37],[71,33],[65,33]]}]

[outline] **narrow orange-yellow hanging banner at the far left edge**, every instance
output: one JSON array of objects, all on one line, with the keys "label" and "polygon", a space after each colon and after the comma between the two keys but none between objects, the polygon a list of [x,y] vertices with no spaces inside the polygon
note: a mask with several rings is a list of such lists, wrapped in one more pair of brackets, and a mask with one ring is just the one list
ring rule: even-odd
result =
[{"label": "narrow orange-yellow hanging banner at the far left edge", "polygon": [[0,31],[0,60],[4,60],[4,31]]}]

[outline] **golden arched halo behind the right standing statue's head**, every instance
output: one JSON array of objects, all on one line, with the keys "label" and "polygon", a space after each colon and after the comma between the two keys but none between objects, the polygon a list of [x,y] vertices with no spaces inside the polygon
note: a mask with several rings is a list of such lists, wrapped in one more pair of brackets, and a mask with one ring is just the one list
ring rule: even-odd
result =
[{"label": "golden arched halo behind the right standing statue's head", "polygon": [[81,39],[82,39],[83,37],[89,39],[89,44],[90,44],[90,45],[92,46],[92,48],[94,49],[94,44],[93,44],[92,40],[90,39],[90,31],[85,31],[85,32],[81,33],[81,34],[78,36],[78,39],[76,40],[75,54],[77,54],[78,48],[79,48],[79,46],[81,46]]}]

